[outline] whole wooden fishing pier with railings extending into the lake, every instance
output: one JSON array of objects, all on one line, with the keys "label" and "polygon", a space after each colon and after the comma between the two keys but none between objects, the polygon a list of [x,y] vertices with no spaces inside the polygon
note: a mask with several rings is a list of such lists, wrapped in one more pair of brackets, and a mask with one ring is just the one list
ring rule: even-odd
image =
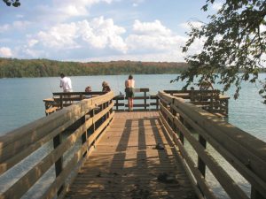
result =
[{"label": "whole wooden fishing pier with railings extending into the lake", "polygon": [[2,175],[37,157],[0,199],[29,198],[38,187],[42,199],[219,198],[209,175],[229,198],[266,198],[266,143],[226,122],[229,97],[216,90],[136,91],[130,112],[127,99],[112,91],[44,99],[46,117],[0,137]]}]

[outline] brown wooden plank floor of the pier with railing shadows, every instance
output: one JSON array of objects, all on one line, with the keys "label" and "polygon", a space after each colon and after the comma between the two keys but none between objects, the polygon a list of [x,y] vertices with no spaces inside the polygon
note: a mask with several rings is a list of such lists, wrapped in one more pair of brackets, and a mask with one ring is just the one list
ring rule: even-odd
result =
[{"label": "brown wooden plank floor of the pier with railing shadows", "polygon": [[197,198],[164,134],[157,111],[115,113],[65,198]]}]

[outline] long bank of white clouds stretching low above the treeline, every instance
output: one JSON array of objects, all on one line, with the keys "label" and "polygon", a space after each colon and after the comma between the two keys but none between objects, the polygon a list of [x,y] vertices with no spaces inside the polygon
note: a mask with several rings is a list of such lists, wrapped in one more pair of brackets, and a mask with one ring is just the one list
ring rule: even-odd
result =
[{"label": "long bank of white clouds stretching low above the treeline", "polygon": [[[28,36],[27,45],[22,51],[32,57],[51,57],[56,52],[56,57],[67,60],[76,60],[75,53],[86,51],[86,54],[93,57],[90,61],[184,61],[185,55],[181,47],[187,41],[186,37],[173,33],[159,20],[136,20],[132,27],[131,34],[123,35],[126,33],[124,27],[116,26],[113,19],[104,17],[59,24],[47,31]],[[190,52],[199,51],[201,46],[202,42],[197,42]],[[95,51],[109,56],[97,57],[97,53],[93,53]],[[66,57],[66,52],[72,58]],[[85,59],[89,58],[83,60]]]}]

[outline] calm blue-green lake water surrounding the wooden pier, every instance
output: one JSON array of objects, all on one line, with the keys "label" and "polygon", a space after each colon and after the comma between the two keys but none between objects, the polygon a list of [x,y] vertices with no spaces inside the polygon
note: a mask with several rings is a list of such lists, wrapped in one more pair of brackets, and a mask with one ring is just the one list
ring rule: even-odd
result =
[{"label": "calm blue-green lake water surrounding the wooden pier", "polygon": [[[102,81],[106,80],[115,94],[119,94],[120,92],[123,93],[124,80],[127,77],[127,75],[79,76],[71,77],[71,80],[73,81],[74,91],[84,91],[84,88],[88,85],[91,86],[93,91],[99,91],[101,90]],[[181,89],[184,83],[170,83],[170,80],[175,78],[176,74],[134,75],[136,88],[150,88],[150,94],[156,94],[159,90],[163,89]],[[260,79],[265,78],[266,73],[260,74]],[[215,88],[219,88],[219,85],[215,85]],[[259,85],[244,82],[237,101],[233,99],[234,88],[229,90],[226,94],[231,97],[229,102],[229,122],[265,142],[266,105],[262,104],[262,98],[259,96],[258,90]],[[5,134],[35,119],[45,117],[43,99],[51,97],[52,92],[60,91],[59,78],[0,79],[0,134]],[[208,149],[213,150],[211,148]],[[43,151],[40,150],[36,153],[42,154]],[[32,164],[34,161],[31,158],[34,159],[35,156],[28,158],[26,164],[21,166],[18,172],[12,172],[4,178],[9,178],[8,176],[10,176],[12,180],[18,179],[23,173],[24,168],[27,170],[27,164]],[[224,162],[222,157],[217,158],[220,163]],[[226,165],[226,163],[224,164]],[[228,168],[228,170],[231,170],[231,173],[234,173],[230,166]],[[50,173],[52,172],[50,171]],[[4,178],[2,177],[2,182],[6,181]],[[51,174],[48,174],[45,178],[44,181],[51,180]],[[246,181],[239,177],[238,179],[238,183],[242,185],[246,193],[249,193],[250,188]],[[12,182],[12,180],[9,181]],[[213,178],[207,178],[207,181],[213,184],[215,192],[218,193],[219,197],[226,198],[221,188],[216,187],[217,183],[215,183]],[[1,188],[4,188],[4,185],[1,185],[0,177]],[[32,193],[34,194],[30,194],[31,198],[36,198],[35,191],[32,191]],[[27,195],[27,197],[30,198],[30,195]]]}]

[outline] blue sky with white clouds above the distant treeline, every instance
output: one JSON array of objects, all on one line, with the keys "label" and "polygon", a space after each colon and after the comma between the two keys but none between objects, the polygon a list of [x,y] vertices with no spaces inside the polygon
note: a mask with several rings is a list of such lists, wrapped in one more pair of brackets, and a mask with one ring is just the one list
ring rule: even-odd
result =
[{"label": "blue sky with white clouds above the distant treeline", "polygon": [[[183,62],[188,23],[216,11],[205,0],[0,1],[0,57],[60,61]],[[200,50],[195,42],[189,51]]]}]

